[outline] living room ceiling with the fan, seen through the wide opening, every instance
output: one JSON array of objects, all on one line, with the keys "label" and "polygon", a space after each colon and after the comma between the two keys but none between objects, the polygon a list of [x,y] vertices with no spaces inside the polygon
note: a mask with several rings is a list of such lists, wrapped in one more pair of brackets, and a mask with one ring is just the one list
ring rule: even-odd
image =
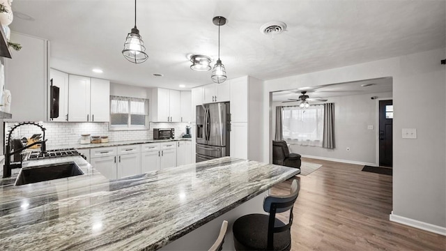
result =
[{"label": "living room ceiling with the fan, seen through the wide opening", "polygon": [[323,86],[302,87],[299,89],[277,91],[272,93],[272,102],[289,102],[289,99],[298,99],[299,96],[302,95],[302,91],[307,91],[306,94],[309,96],[309,98],[328,99],[328,102],[330,102],[330,98],[332,97],[353,96],[369,93],[391,93],[392,77],[382,77],[379,79],[367,79],[355,82],[326,84]]}]

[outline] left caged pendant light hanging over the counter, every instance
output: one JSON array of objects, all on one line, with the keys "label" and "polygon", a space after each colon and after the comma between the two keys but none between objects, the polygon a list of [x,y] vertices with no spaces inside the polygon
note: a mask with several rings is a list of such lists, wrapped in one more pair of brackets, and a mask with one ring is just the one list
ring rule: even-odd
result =
[{"label": "left caged pendant light hanging over the counter", "polygon": [[148,59],[144,41],[137,29],[137,0],[134,0],[134,28],[125,39],[123,55],[132,63],[144,63]]}]

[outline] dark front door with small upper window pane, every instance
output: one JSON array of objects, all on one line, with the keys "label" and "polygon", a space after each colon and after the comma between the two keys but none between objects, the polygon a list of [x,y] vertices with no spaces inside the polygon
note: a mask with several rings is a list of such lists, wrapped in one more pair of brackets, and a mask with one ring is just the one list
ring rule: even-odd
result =
[{"label": "dark front door with small upper window pane", "polygon": [[392,100],[379,101],[379,165],[392,167]]}]

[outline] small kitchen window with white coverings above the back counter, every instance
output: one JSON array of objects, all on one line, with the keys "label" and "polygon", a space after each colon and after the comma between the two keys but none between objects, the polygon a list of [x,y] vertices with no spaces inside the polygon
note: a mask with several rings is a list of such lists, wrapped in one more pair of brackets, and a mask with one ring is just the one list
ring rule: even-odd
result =
[{"label": "small kitchen window with white coverings above the back counter", "polygon": [[110,96],[110,127],[147,128],[148,99]]}]

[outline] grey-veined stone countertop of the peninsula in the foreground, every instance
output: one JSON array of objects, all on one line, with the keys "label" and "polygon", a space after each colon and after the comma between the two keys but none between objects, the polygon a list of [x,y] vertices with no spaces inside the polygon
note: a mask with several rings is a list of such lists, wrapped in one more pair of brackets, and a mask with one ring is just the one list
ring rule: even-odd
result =
[{"label": "grey-veined stone countertop of the peninsula in the foreground", "polygon": [[231,157],[114,181],[84,168],[1,185],[0,250],[157,250],[297,174]]}]

